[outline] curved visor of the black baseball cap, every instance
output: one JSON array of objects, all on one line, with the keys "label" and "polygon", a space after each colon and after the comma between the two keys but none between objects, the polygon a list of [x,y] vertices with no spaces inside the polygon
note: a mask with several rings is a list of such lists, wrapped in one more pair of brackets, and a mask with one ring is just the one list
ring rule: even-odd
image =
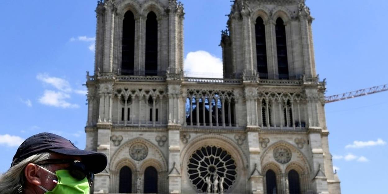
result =
[{"label": "curved visor of the black baseball cap", "polygon": [[58,154],[64,154],[69,156],[80,156],[82,158],[82,163],[92,173],[100,173],[103,171],[107,165],[108,159],[105,154],[95,151],[88,151],[82,149],[69,149],[69,148],[59,148],[59,149],[49,149],[52,152]]}]

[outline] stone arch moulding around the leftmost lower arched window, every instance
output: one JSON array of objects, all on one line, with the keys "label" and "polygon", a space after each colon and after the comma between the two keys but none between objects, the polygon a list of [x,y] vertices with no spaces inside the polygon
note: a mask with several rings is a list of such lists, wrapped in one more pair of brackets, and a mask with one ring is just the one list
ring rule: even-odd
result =
[{"label": "stone arch moulding around the leftmost lower arched window", "polygon": [[116,163],[111,163],[110,165],[110,173],[111,173],[111,179],[110,179],[110,185],[111,185],[111,188],[110,188],[110,192],[115,192],[115,193],[118,193],[119,192],[119,186],[120,186],[120,170],[121,168],[123,168],[124,166],[128,166],[131,171],[132,171],[132,192],[134,192],[134,188],[135,188],[135,180],[136,180],[136,176],[137,176],[137,167],[133,161],[133,159],[130,159],[130,158],[122,158],[120,159],[119,161],[117,161]]}]

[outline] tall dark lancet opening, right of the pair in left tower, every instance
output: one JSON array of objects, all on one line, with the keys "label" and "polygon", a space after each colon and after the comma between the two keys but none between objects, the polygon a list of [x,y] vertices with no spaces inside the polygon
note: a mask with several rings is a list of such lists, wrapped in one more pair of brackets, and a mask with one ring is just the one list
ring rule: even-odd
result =
[{"label": "tall dark lancet opening, right of the pair in left tower", "polygon": [[149,12],[145,23],[145,75],[158,75],[158,20]]}]

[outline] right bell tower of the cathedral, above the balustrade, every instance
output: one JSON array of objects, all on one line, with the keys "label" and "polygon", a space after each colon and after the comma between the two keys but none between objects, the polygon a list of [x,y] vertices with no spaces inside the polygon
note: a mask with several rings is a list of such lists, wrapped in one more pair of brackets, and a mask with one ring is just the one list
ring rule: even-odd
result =
[{"label": "right bell tower of the cathedral, above the balustrade", "polygon": [[236,0],[222,33],[224,77],[315,77],[313,20],[305,0]]}]

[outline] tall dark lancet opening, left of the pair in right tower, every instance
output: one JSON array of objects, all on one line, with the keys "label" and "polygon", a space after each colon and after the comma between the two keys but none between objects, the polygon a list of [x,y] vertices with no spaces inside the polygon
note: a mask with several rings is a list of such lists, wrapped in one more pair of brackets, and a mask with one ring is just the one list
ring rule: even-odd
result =
[{"label": "tall dark lancet opening, left of the pair in right tower", "polygon": [[267,69],[267,47],[265,45],[265,26],[261,17],[256,19],[256,57],[257,57],[257,71],[260,78],[268,79]]}]

